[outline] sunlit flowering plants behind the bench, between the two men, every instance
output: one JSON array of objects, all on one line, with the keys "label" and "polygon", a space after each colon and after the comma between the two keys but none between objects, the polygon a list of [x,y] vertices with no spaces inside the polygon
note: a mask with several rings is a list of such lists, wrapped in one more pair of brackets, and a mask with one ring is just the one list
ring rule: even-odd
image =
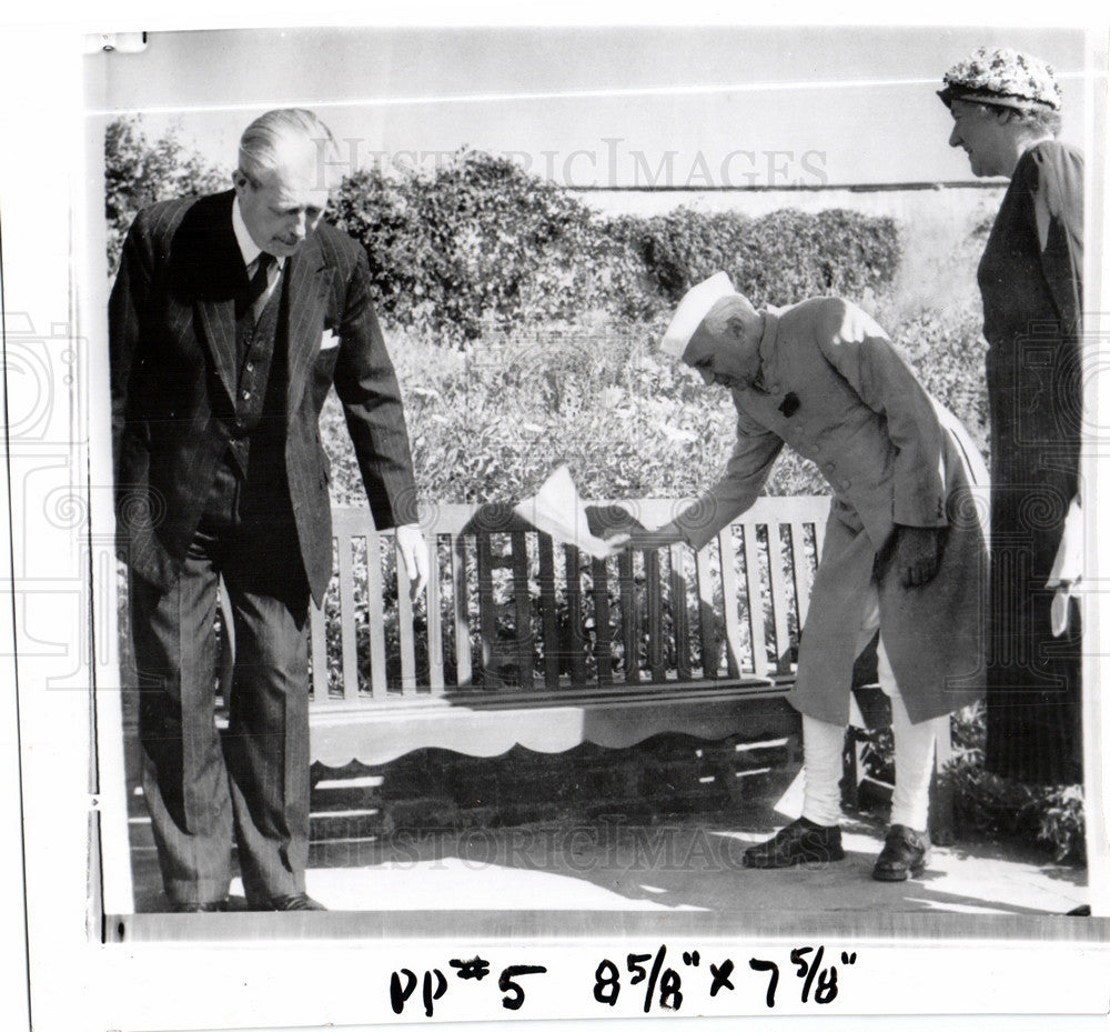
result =
[{"label": "sunlit flowering plants behind the bench, between the two men", "polygon": [[[693,497],[724,469],[736,438],[728,394],[654,352],[634,330],[564,329],[483,339],[444,353],[405,334],[390,350],[405,393],[417,485],[437,502],[515,501],[567,462],[584,497]],[[363,489],[337,405],[322,432],[336,501]],[[788,451],[773,494],[825,493]]]}]

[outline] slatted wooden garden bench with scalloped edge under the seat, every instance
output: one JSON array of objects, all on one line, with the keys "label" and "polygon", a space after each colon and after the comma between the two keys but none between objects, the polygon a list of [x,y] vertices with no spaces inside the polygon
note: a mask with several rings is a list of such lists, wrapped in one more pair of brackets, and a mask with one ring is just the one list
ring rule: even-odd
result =
[{"label": "slatted wooden garden bench with scalloped edge under the seat", "polygon": [[[676,503],[624,504],[650,525]],[[392,534],[337,509],[337,573],[312,612],[313,759],[796,730],[784,695],[827,512],[826,498],[763,499],[697,553],[599,561],[507,505],[443,505],[424,521],[431,577],[414,612]]]}]

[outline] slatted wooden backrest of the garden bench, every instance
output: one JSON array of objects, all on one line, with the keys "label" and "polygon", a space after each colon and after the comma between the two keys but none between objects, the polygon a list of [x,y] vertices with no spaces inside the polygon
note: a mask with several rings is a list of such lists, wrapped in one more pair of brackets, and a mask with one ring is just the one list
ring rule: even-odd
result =
[{"label": "slatted wooden backrest of the garden bench", "polygon": [[[676,502],[623,502],[646,525]],[[336,577],[310,622],[313,705],[468,691],[766,679],[788,674],[828,499],[760,499],[696,554],[591,559],[506,505],[426,521],[430,583],[414,608],[393,535],[334,511]]]}]

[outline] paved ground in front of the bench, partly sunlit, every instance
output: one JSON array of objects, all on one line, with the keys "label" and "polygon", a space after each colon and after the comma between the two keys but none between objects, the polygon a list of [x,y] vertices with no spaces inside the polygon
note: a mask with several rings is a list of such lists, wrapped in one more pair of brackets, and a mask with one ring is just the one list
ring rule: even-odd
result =
[{"label": "paved ground in front of the bench, partly sunlit", "polygon": [[[311,895],[335,911],[791,911],[1063,914],[1087,902],[1086,871],[988,843],[935,846],[929,869],[876,882],[885,828],[846,821],[847,856],[787,871],[751,871],[744,849],[773,826],[738,831],[695,819],[398,832],[375,842],[316,844]],[[153,851],[135,855],[137,910],[164,905]],[[238,881],[232,893],[241,894]]]}]

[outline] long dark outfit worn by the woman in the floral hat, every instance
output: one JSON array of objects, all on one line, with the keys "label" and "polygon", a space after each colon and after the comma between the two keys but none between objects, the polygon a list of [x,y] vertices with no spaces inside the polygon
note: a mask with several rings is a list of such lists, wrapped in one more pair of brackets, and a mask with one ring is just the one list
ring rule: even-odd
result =
[{"label": "long dark outfit worn by the woman in the floral hat", "polygon": [[1028,150],[979,263],[990,345],[986,764],[1040,784],[1082,781],[1079,612],[1072,602],[1070,630],[1053,638],[1045,587],[1079,488],[1082,183],[1073,148]]}]

